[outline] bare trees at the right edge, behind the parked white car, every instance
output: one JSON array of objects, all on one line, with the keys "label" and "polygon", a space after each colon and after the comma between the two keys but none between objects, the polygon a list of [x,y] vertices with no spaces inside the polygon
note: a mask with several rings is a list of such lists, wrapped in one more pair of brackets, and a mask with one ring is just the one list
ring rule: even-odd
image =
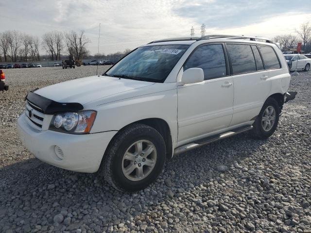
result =
[{"label": "bare trees at the right edge, behind the parked white car", "polygon": [[311,23],[302,23],[296,34],[277,35],[272,40],[280,44],[282,50],[296,49],[298,42],[302,43],[304,53],[311,51]]}]

